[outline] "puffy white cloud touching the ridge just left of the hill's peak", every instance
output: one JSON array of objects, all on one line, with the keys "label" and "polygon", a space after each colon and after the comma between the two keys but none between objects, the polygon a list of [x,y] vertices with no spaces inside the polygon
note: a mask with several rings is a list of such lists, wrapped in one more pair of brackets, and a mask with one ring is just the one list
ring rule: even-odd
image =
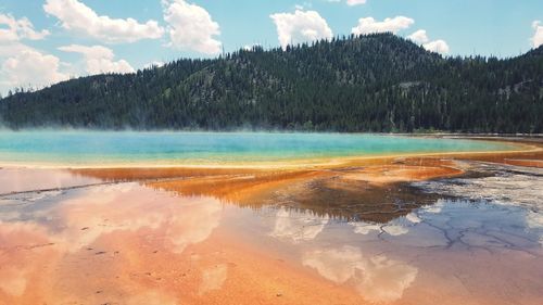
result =
[{"label": "puffy white cloud touching the ridge just left of the hill's peak", "polygon": [[270,15],[277,27],[279,43],[283,49],[288,45],[298,45],[317,39],[330,39],[333,34],[325,18],[315,11],[277,13]]}]

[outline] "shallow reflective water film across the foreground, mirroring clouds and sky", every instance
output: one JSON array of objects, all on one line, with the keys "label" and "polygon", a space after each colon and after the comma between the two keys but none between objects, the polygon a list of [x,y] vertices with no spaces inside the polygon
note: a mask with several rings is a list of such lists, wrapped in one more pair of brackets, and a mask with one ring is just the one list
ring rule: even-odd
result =
[{"label": "shallow reflective water film across the foreground, mirroring clouds and sky", "polygon": [[[33,173],[43,174],[25,175]],[[504,204],[440,189],[406,215],[371,223],[311,204],[249,208],[135,182],[87,182],[0,196],[0,304],[543,300],[539,199],[528,206],[510,194]]]}]

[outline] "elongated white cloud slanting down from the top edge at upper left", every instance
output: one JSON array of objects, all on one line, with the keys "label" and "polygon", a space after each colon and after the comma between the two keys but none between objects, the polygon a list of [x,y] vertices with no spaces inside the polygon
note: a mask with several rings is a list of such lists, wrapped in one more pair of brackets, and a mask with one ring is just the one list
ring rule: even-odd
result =
[{"label": "elongated white cloud slanting down from the top edge at upper left", "polygon": [[47,0],[43,10],[58,17],[65,29],[86,34],[106,43],[156,39],[164,34],[155,21],[141,24],[134,18],[100,16],[78,0]]}]

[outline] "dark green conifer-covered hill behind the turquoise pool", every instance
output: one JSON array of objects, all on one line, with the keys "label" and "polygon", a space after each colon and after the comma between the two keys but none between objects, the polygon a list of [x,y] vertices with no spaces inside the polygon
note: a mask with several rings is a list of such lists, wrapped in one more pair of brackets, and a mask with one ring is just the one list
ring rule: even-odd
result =
[{"label": "dark green conifer-covered hill behind the turquoise pool", "polygon": [[543,131],[543,48],[447,58],[391,34],[240,50],[0,100],[10,128]]}]

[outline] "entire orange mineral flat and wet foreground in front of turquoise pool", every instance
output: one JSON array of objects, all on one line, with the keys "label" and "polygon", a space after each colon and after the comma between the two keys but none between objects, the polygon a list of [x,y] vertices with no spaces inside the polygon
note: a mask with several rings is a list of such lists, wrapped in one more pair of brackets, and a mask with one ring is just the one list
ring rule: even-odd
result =
[{"label": "entire orange mineral flat and wet foreground in front of turquoise pool", "polygon": [[542,160],[0,168],[0,304],[540,305]]}]

